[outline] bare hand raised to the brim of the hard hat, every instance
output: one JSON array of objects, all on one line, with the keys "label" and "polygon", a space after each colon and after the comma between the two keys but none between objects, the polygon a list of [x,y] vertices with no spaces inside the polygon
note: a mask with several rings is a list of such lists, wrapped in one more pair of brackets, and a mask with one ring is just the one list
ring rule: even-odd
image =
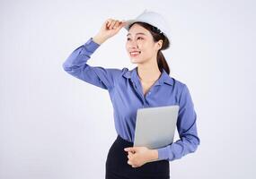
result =
[{"label": "bare hand raised to the brim of the hard hat", "polygon": [[102,28],[97,33],[97,35],[93,37],[93,40],[98,44],[102,44],[108,38],[111,38],[114,35],[116,35],[119,32],[119,30],[125,25],[126,21],[108,19],[102,24]]}]

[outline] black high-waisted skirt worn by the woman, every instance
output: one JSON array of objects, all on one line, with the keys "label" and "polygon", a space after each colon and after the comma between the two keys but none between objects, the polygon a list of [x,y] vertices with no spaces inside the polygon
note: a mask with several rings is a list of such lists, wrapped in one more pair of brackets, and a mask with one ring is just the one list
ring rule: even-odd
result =
[{"label": "black high-waisted skirt worn by the woman", "polygon": [[110,147],[106,160],[105,179],[169,179],[168,160],[148,162],[143,166],[128,165],[128,152],[124,148],[133,147],[133,143],[122,139],[119,135]]}]

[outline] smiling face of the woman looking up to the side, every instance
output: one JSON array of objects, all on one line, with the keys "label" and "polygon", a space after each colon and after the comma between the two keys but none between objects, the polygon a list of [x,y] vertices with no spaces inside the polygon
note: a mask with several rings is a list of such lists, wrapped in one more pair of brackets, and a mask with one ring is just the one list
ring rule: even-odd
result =
[{"label": "smiling face of the woman looking up to the side", "polygon": [[161,48],[163,40],[154,42],[151,33],[144,27],[135,23],[129,30],[126,49],[133,64],[144,64],[156,60],[157,51]]}]

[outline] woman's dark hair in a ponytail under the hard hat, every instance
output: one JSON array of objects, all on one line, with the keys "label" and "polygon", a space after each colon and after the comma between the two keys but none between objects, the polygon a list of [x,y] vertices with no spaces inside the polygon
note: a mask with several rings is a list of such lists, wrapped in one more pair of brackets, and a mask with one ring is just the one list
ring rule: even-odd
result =
[{"label": "woman's dark hair in a ponytail under the hard hat", "polygon": [[161,49],[158,50],[157,52],[157,64],[158,64],[158,68],[159,70],[162,72],[162,70],[164,69],[165,72],[167,72],[168,74],[170,74],[170,68],[169,65],[167,64],[165,57],[162,53],[161,50],[164,50],[168,47],[170,47],[170,41],[168,40],[168,38],[166,38],[163,35],[163,32],[161,32],[161,30],[157,29],[156,27],[146,23],[146,22],[142,22],[142,21],[136,21],[134,23],[132,23],[129,26],[129,29],[131,28],[131,26],[133,26],[133,24],[139,24],[142,27],[144,27],[146,30],[149,30],[149,32],[151,33],[151,35],[153,36],[154,42],[157,42],[160,39],[163,39],[163,45],[161,47]]}]

